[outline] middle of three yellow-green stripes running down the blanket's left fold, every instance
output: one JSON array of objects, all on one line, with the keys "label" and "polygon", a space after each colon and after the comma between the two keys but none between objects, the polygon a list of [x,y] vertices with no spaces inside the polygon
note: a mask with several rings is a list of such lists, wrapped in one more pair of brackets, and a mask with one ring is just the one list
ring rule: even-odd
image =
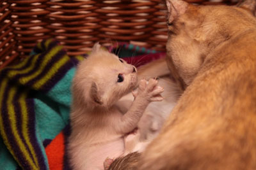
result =
[{"label": "middle of three yellow-green stripes running down the blanket's left fold", "polygon": [[10,120],[10,124],[12,127],[12,132],[17,141],[17,144],[20,147],[20,150],[22,150],[22,152],[24,153],[25,159],[29,162],[29,165],[31,165],[33,169],[38,169],[35,166],[35,164],[33,163],[33,160],[31,160],[31,158],[29,156],[29,152],[26,149],[26,146],[24,145],[24,143],[22,143],[22,139],[20,138],[19,133],[17,131],[15,110],[14,110],[13,104],[12,104],[12,100],[13,100],[13,96],[14,96],[15,92],[16,92],[16,89],[14,87],[12,87],[10,89],[10,94],[8,95],[8,99],[7,99],[8,115],[9,115],[9,120]]}]

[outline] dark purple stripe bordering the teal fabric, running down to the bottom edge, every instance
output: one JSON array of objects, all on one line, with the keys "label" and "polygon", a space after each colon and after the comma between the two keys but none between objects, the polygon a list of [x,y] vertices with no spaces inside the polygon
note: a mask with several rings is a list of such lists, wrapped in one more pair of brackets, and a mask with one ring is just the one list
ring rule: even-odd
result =
[{"label": "dark purple stripe bordering the teal fabric, running down to the bottom edge", "polygon": [[42,150],[40,148],[39,143],[41,143],[41,141],[38,141],[38,139],[36,138],[36,128],[35,128],[35,103],[34,100],[31,99],[26,99],[26,107],[28,108],[28,134],[29,134],[29,140],[31,141],[31,145],[33,146],[35,153],[36,153],[36,157],[38,160],[38,164],[40,169],[47,169],[46,165],[45,165],[45,158]]}]

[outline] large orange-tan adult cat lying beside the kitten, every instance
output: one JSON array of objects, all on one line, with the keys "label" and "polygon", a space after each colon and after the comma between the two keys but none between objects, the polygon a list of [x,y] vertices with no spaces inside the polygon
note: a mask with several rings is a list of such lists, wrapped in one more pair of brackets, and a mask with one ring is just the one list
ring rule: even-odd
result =
[{"label": "large orange-tan adult cat lying beside the kitten", "polygon": [[166,4],[167,64],[186,90],[138,169],[256,169],[256,1]]}]

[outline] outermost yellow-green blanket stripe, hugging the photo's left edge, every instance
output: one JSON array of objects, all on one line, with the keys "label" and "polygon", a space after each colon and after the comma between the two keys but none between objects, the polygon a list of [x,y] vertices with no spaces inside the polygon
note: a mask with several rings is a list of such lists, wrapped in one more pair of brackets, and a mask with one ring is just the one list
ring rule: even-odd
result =
[{"label": "outermost yellow-green blanket stripe, hugging the photo's left edge", "polygon": [[[7,81],[6,78],[5,78],[5,79],[2,81],[2,83],[1,83],[1,87],[0,87],[0,97],[1,97],[1,98],[0,98],[0,108],[2,108],[2,101],[4,100],[4,99],[3,99],[3,96],[4,96],[4,91],[5,91],[5,89],[6,89],[7,83],[8,83],[8,81]],[[0,110],[0,111],[1,111],[1,110]],[[14,159],[15,159],[15,160],[18,160],[17,157],[15,157],[15,154],[14,154],[14,152],[13,152],[13,150],[12,150],[12,147],[11,147],[9,141],[8,141],[7,135],[6,135],[5,131],[4,131],[4,127],[3,127],[4,125],[3,125],[2,114],[3,114],[3,113],[1,113],[1,115],[0,115],[0,132],[1,132],[1,136],[2,136],[2,138],[4,139],[4,143],[5,143],[5,145],[7,146],[8,150],[10,150],[10,152],[12,153]]]}]

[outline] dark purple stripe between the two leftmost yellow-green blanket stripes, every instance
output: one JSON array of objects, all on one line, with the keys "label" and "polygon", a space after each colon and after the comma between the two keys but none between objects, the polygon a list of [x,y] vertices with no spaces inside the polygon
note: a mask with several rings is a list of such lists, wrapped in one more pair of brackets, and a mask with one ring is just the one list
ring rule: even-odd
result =
[{"label": "dark purple stripe between the two leftmost yellow-green blanket stripes", "polygon": [[9,82],[8,86],[4,90],[4,95],[3,95],[2,108],[1,108],[1,111],[2,111],[1,116],[4,120],[3,121],[3,130],[4,130],[4,132],[6,132],[8,143],[10,144],[10,146],[13,150],[13,154],[18,159],[17,161],[19,162],[20,166],[22,166],[24,169],[31,169],[28,162],[26,162],[26,159],[25,159],[24,155],[22,154],[22,151],[20,150],[19,145],[17,144],[15,136],[13,135],[12,127],[10,124],[10,119],[8,116],[8,108],[7,108],[8,105],[7,105],[6,99],[8,98],[8,94],[10,92],[11,87],[12,87],[12,85]]}]

